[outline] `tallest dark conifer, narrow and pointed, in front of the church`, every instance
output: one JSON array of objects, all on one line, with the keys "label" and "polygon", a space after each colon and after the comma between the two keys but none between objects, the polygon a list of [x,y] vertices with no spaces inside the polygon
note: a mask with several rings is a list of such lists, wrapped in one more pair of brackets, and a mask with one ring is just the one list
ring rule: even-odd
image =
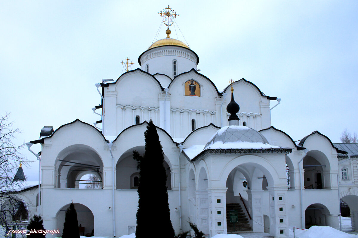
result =
[{"label": "tallest dark conifer, narrow and pointed, in front of the church", "polygon": [[161,237],[174,238],[166,189],[167,176],[163,165],[164,153],[152,120],[149,121],[144,137],[144,156],[133,152],[140,168],[136,238],[148,237],[155,229],[160,231]]}]

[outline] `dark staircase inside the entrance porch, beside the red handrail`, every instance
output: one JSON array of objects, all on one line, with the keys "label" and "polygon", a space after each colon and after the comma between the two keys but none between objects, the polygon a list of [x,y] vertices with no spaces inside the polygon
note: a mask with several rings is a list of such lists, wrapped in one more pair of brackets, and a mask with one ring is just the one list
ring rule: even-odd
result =
[{"label": "dark staircase inside the entrance porch, beside the red handrail", "polygon": [[[230,210],[236,210],[238,215],[238,222],[230,222]],[[240,203],[228,203],[226,204],[226,220],[227,220],[227,233],[237,234],[240,232],[250,232],[252,228],[249,224],[248,218],[246,217]]]}]

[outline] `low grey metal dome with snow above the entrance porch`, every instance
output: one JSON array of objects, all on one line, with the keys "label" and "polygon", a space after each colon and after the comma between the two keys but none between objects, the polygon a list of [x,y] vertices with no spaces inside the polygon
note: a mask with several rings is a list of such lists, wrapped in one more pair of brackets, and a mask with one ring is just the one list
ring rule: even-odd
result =
[{"label": "low grey metal dome with snow above the entrance porch", "polygon": [[212,145],[214,144],[218,145],[218,144],[226,144],[232,142],[250,142],[250,143],[269,144],[269,142],[260,132],[250,127],[224,126],[210,138],[208,143],[205,145],[205,149],[212,147]]}]

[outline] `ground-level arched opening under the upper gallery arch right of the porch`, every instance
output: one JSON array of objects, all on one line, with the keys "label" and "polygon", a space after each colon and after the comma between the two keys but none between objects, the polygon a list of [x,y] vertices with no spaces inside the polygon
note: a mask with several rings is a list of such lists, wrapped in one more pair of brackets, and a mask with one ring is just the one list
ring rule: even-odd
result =
[{"label": "ground-level arched opening under the upper gallery arch right of the porch", "polygon": [[329,215],[330,213],[324,205],[320,203],[311,204],[305,211],[306,229],[311,226],[330,226],[331,224],[326,219]]}]

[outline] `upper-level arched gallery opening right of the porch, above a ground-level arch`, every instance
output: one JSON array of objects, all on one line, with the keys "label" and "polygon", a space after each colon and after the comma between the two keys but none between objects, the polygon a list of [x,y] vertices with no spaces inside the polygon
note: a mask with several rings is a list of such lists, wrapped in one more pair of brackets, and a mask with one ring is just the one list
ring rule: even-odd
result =
[{"label": "upper-level arched gallery opening right of the porch, above a ground-level arch", "polygon": [[309,151],[303,159],[305,189],[330,188],[330,164],[320,151]]}]

